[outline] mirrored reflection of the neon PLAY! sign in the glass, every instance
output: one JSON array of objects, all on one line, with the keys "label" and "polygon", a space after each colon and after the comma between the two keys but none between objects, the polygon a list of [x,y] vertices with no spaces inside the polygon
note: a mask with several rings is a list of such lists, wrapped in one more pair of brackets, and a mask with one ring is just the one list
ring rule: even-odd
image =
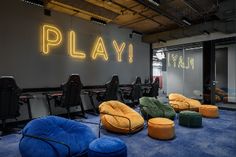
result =
[{"label": "mirrored reflection of the neon PLAY! sign in the glass", "polygon": [[184,58],[181,55],[168,53],[167,55],[168,67],[180,68],[180,69],[192,69],[194,70],[194,58]]}]

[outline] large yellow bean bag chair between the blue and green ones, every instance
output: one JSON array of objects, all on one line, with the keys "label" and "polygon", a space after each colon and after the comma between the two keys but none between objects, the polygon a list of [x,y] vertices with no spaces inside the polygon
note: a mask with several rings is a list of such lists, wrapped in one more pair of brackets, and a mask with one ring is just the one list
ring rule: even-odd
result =
[{"label": "large yellow bean bag chair between the blue and green ones", "polygon": [[103,126],[116,133],[132,133],[143,128],[143,117],[119,101],[106,101],[99,106]]}]

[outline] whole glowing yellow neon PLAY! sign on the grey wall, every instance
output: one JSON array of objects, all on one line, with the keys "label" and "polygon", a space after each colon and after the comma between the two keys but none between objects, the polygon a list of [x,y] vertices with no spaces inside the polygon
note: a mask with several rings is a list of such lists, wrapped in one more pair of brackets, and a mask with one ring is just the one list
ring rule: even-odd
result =
[{"label": "whole glowing yellow neon PLAY! sign on the grey wall", "polygon": [[[42,52],[44,54],[49,54],[52,49],[60,46],[63,37],[61,31],[52,25],[43,25],[42,27]],[[72,58],[85,59],[87,57],[84,51],[78,50],[76,48],[76,33],[72,30],[68,34],[68,54]],[[124,53],[126,43],[118,43],[116,40],[112,42],[114,51],[116,53],[116,59],[118,62],[122,62],[122,54]],[[133,62],[133,45],[128,45],[128,61]],[[109,56],[106,50],[106,46],[102,37],[98,37],[94,43],[94,48],[91,52],[91,58],[96,60],[97,58],[102,58],[105,61],[109,60]]]}]

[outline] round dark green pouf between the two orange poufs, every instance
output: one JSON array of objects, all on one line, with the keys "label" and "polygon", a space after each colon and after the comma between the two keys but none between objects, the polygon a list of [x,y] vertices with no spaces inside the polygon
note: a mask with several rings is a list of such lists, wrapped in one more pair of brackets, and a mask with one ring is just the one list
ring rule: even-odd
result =
[{"label": "round dark green pouf between the two orange poufs", "polygon": [[181,111],[179,113],[179,125],[190,128],[202,127],[202,115],[195,111]]}]

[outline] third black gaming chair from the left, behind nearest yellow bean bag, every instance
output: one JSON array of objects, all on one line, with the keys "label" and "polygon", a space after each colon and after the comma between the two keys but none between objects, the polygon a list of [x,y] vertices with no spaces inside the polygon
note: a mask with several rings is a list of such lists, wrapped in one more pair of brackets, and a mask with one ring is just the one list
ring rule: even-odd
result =
[{"label": "third black gaming chair from the left, behind nearest yellow bean bag", "polygon": [[97,95],[98,101],[117,100],[119,93],[119,77],[113,75],[111,81],[105,84],[105,92],[101,92]]}]

